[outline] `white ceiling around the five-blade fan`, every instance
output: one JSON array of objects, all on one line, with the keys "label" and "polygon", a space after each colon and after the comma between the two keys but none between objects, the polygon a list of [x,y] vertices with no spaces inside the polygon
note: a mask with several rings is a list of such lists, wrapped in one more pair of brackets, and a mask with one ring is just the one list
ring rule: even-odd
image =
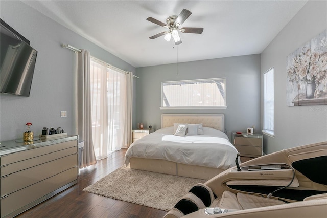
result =
[{"label": "white ceiling around the five-blade fan", "polygon": [[[23,1],[134,67],[260,54],[307,1]],[[192,15],[175,46],[161,36],[164,23],[185,8]],[[66,42],[62,42],[66,43]],[[72,43],[73,44],[73,43]],[[82,47],[81,45],[72,45]]]}]

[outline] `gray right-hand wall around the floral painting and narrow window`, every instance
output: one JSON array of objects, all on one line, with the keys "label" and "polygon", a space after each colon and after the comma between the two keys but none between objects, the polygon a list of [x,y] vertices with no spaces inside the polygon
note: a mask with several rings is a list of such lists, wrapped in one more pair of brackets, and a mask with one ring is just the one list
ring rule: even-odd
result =
[{"label": "gray right-hand wall around the floral painting and narrow window", "polygon": [[327,105],[286,106],[287,56],[327,28],[326,11],[326,1],[309,1],[261,54],[261,73],[274,67],[275,83],[275,137],[264,137],[267,153],[327,141]]}]

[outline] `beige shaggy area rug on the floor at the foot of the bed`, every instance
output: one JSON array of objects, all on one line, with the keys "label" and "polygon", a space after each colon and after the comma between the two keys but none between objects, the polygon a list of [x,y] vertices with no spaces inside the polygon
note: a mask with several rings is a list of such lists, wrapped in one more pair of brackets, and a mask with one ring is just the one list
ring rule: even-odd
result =
[{"label": "beige shaggy area rug on the floor at the foot of the bed", "polygon": [[116,169],[83,191],[169,211],[191,188],[205,180],[156,172]]}]

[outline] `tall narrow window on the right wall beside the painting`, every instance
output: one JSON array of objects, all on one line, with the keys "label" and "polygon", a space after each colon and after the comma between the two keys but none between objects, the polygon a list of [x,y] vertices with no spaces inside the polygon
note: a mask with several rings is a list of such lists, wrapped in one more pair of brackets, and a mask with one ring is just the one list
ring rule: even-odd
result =
[{"label": "tall narrow window on the right wall beside the painting", "polygon": [[264,129],[263,133],[274,136],[274,69],[264,73]]}]

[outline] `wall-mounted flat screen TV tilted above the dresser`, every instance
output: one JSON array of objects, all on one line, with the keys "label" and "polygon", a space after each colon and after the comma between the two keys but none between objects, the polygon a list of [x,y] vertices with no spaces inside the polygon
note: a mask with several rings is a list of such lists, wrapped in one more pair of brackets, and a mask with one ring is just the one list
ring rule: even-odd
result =
[{"label": "wall-mounted flat screen TV tilted above the dresser", "polygon": [[37,51],[1,20],[0,92],[30,96]]}]

